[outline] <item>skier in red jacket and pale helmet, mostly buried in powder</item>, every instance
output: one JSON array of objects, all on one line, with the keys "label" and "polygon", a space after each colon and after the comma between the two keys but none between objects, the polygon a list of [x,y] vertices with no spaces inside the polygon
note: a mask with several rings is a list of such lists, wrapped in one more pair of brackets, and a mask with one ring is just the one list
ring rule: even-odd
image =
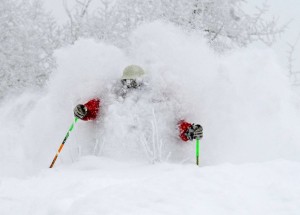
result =
[{"label": "skier in red jacket and pale helmet, mostly buried in powder", "polygon": [[[144,70],[137,65],[127,66],[121,78],[122,87],[118,94],[123,98],[129,90],[140,89],[143,86],[142,77]],[[78,104],[74,108],[75,117],[88,121],[95,120],[100,113],[100,99],[94,98],[85,104]],[[203,137],[203,129],[199,124],[189,123],[185,120],[178,122],[179,137],[182,141],[201,139]]]}]

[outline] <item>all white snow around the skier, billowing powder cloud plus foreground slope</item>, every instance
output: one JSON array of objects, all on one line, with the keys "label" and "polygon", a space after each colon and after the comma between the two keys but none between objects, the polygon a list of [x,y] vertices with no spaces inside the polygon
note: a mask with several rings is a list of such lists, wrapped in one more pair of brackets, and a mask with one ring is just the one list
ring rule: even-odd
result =
[{"label": "all white snow around the skier, billowing powder cloud plus foreground slope", "polygon": [[[299,98],[274,53],[219,56],[161,22],[130,41],[58,50],[44,90],[0,103],[0,214],[300,214]],[[122,98],[129,64],[145,86]],[[73,108],[94,97],[100,117],[77,122],[48,169]],[[204,128],[200,167],[181,119]]]}]

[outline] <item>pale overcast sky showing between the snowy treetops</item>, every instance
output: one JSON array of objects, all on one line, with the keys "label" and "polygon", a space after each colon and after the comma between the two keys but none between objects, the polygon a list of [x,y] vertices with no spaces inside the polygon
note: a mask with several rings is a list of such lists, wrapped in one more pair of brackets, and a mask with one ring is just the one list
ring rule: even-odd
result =
[{"label": "pale overcast sky showing between the snowy treetops", "polygon": [[[63,8],[63,0],[43,1],[45,2],[45,7],[52,12],[59,23],[67,21],[68,17]],[[67,0],[66,2],[71,6],[74,1]],[[93,0],[93,2],[97,3],[97,0]],[[287,66],[287,43],[294,43],[300,34],[300,0],[248,0],[247,7],[249,7],[249,10],[254,10],[256,5],[262,5],[264,2],[270,6],[270,14],[279,18],[279,23],[284,24],[292,21],[289,24],[289,28],[273,47],[279,57],[279,62],[282,66]],[[297,70],[300,70],[300,41],[296,48],[295,58],[298,61],[295,62],[295,67]]]}]

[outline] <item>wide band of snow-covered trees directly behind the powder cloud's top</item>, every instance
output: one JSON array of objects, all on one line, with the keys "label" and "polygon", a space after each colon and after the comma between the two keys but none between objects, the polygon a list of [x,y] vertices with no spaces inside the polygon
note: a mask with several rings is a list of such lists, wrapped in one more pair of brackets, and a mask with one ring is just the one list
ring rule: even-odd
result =
[{"label": "wide band of snow-covered trees directly behind the powder cloud's top", "polygon": [[[254,41],[267,45],[284,31],[276,20],[266,20],[267,7],[256,14],[243,10],[245,0],[77,0],[75,8],[66,11],[70,22],[67,38],[94,37],[118,45],[126,42],[128,34],[138,25],[162,19],[186,30],[203,34],[212,47],[224,50],[246,46]],[[92,3],[95,7],[89,6]],[[72,11],[72,12],[71,12]]]}]

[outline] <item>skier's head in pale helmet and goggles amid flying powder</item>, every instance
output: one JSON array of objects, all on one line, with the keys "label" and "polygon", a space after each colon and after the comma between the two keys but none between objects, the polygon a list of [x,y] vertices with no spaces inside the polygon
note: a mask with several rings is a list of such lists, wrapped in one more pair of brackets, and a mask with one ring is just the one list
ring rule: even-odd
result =
[{"label": "skier's head in pale helmet and goggles amid flying powder", "polygon": [[145,72],[140,66],[127,66],[123,70],[121,82],[123,86],[126,86],[127,88],[137,88],[142,84],[144,74]]}]

